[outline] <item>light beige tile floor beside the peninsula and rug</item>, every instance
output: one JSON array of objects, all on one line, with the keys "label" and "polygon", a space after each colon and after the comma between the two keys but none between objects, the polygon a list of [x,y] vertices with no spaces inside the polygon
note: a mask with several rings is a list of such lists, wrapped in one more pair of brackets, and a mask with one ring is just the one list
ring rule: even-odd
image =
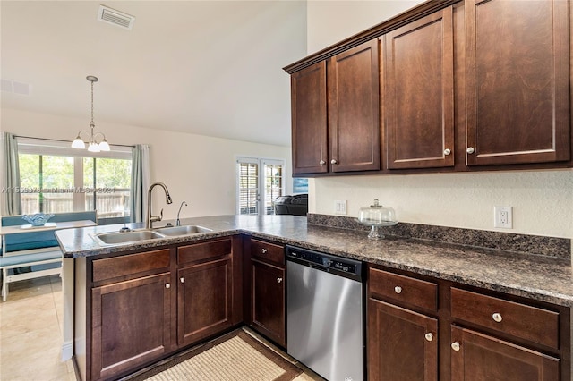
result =
[{"label": "light beige tile floor beside the peninsula and rug", "polygon": [[[58,275],[10,284],[0,299],[0,381],[76,381],[72,360],[61,360],[62,305]],[[322,379],[307,370],[293,381]]]}]

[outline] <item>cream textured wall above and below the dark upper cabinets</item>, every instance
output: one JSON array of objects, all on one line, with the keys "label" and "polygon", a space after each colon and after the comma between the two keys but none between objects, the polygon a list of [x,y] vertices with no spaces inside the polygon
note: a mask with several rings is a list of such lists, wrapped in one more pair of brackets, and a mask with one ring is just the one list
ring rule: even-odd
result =
[{"label": "cream textured wall above and below the dark upper cabinets", "polygon": [[[308,53],[403,12],[405,1],[310,1]],[[348,216],[372,199],[397,210],[398,220],[419,224],[493,228],[493,206],[514,207],[514,228],[500,231],[573,237],[573,171],[479,174],[379,175],[319,178],[309,187],[312,213],[334,215],[348,201]]]}]

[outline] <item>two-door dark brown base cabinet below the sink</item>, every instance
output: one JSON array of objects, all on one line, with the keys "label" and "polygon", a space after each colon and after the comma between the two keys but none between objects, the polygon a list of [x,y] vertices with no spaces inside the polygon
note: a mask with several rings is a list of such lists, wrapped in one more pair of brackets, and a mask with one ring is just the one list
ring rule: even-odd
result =
[{"label": "two-door dark brown base cabinet below the sink", "polygon": [[[114,379],[243,321],[240,236],[77,263],[76,317],[86,332],[77,347],[80,375]],[[81,340],[76,340],[76,342]],[[82,357],[81,354],[85,353]]]}]

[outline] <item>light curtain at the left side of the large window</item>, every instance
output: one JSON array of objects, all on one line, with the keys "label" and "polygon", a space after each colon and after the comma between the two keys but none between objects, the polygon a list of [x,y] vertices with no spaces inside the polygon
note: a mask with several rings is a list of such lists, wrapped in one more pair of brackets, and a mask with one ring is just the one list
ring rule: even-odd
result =
[{"label": "light curtain at the left side of the large window", "polygon": [[3,214],[21,215],[21,197],[16,190],[20,188],[20,165],[18,163],[18,141],[10,132],[3,132],[3,157],[4,161],[4,197]]}]

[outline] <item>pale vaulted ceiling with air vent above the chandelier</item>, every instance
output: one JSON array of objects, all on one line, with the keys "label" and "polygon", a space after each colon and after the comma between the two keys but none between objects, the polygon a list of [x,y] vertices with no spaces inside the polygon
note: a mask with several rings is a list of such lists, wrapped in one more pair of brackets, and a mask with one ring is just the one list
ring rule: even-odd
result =
[{"label": "pale vaulted ceiling with air vent above the chandelier", "polygon": [[[135,16],[97,21],[99,4]],[[306,54],[304,1],[1,1],[2,107],[290,145],[289,77]],[[15,131],[17,132],[17,131]],[[111,131],[104,131],[108,140]]]}]

